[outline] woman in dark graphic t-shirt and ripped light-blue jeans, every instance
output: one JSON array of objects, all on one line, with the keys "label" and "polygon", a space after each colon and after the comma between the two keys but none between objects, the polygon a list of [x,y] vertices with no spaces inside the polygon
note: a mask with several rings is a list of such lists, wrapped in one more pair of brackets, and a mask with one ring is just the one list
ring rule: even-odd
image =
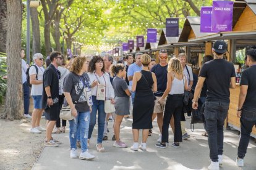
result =
[{"label": "woman in dark graphic t-shirt and ripped light-blue jeans", "polygon": [[77,133],[80,133],[79,140],[81,141],[82,152],[79,158],[81,160],[95,158],[88,152],[87,148],[90,104],[85,89],[91,89],[95,86],[95,84],[90,83],[90,79],[85,73],[87,71],[88,62],[86,58],[76,57],[70,66],[70,73],[64,79],[64,95],[74,116],[74,119],[69,121],[70,158],[77,158]]}]

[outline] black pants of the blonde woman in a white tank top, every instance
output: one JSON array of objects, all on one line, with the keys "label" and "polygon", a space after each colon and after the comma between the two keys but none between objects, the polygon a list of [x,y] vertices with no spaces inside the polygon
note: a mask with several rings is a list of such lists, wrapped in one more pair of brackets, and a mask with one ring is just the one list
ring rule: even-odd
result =
[{"label": "black pants of the blonde woman in a white tank top", "polygon": [[183,108],[183,94],[168,94],[166,105],[164,108],[162,142],[168,142],[169,124],[171,116],[174,116],[174,142],[182,142],[181,134],[181,114]]}]

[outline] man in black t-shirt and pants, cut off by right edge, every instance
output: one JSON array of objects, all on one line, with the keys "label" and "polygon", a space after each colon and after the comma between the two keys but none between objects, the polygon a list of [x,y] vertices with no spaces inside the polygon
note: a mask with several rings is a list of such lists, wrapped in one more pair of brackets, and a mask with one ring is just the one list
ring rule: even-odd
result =
[{"label": "man in black t-shirt and pants, cut off by right edge", "polygon": [[247,65],[249,68],[243,71],[237,117],[241,123],[241,138],[238,146],[236,163],[244,166],[244,156],[249,144],[252,127],[256,126],[256,49],[247,51]]}]

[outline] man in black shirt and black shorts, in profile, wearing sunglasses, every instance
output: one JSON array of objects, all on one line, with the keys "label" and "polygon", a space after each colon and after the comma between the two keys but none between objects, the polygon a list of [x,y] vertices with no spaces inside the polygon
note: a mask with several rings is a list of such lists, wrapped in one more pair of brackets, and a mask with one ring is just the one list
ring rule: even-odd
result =
[{"label": "man in black shirt and black shorts, in profile, wearing sunglasses", "polygon": [[52,52],[49,56],[51,64],[43,74],[42,108],[45,108],[45,118],[49,121],[46,127],[45,147],[58,147],[61,144],[51,136],[54,125],[59,119],[61,111],[59,95],[61,95],[61,84],[59,79],[61,73],[58,67],[62,65],[62,57],[59,52]]}]

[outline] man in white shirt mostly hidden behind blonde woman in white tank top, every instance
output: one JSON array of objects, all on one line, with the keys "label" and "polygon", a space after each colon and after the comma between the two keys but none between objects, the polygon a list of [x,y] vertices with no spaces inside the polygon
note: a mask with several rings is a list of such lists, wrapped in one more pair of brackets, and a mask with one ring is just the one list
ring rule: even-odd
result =
[{"label": "man in white shirt mostly hidden behind blonde woman in white tank top", "polygon": [[[187,57],[185,53],[180,53],[178,55],[179,60],[181,60],[181,65],[183,68],[183,73],[187,79],[188,91],[191,91],[191,87],[193,85],[193,71],[192,68],[186,65]],[[186,124],[184,121],[181,121],[181,131],[182,131],[182,139],[188,139],[190,137],[189,134],[186,132]]]}]

